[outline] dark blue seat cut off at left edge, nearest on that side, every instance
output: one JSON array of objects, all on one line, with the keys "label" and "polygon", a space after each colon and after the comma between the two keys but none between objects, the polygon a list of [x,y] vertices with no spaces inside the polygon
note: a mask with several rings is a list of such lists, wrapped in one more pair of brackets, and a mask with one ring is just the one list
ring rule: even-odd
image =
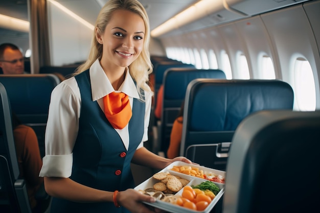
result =
[{"label": "dark blue seat cut off at left edge, nearest on that side", "polygon": [[[10,103],[2,83],[0,99],[0,212],[31,213],[26,183],[19,177]],[[36,199],[50,201],[51,197],[43,190],[44,185],[37,192]]]}]

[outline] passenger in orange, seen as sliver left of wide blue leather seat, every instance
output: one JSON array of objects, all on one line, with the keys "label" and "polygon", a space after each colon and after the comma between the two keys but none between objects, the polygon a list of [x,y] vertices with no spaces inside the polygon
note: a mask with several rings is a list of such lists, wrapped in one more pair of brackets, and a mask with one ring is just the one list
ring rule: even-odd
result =
[{"label": "passenger in orange, seen as sliver left of wide blue leather seat", "polygon": [[183,101],[181,104],[180,111],[173,122],[171,134],[170,134],[170,144],[167,151],[167,157],[173,159],[177,156],[180,156],[180,144],[181,144],[181,137],[182,137],[182,123],[184,121],[184,104]]}]

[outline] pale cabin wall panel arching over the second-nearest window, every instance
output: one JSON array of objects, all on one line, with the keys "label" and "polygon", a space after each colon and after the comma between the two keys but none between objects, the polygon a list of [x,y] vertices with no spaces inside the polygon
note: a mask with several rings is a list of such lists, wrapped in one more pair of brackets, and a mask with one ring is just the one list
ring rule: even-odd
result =
[{"label": "pale cabin wall panel arching over the second-nearest window", "polygon": [[[246,57],[251,79],[262,79],[261,58],[264,54],[269,56],[273,65],[278,67],[279,61],[272,51],[272,44],[260,16],[254,16],[235,22],[241,35],[243,44],[246,46]],[[251,67],[251,69],[250,69]]]}]

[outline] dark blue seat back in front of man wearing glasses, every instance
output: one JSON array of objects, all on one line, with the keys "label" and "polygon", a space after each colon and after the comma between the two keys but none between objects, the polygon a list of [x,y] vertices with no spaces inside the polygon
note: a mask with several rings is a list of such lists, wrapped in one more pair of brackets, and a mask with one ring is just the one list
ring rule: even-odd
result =
[{"label": "dark blue seat back in front of man wearing glasses", "polygon": [[51,92],[60,80],[53,74],[21,74],[0,75],[0,82],[7,90],[12,112],[36,132],[43,157]]}]

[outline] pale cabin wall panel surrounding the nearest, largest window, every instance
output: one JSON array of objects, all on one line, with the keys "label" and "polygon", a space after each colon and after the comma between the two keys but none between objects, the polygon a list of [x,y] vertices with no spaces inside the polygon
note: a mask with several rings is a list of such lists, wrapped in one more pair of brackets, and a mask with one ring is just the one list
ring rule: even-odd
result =
[{"label": "pale cabin wall panel surrounding the nearest, largest window", "polygon": [[319,81],[315,62],[319,61],[319,52],[302,5],[262,14],[261,17],[279,55],[283,80],[288,82],[293,90],[295,90],[293,76],[295,59],[303,57],[309,61],[315,77],[316,106],[320,108]]}]

